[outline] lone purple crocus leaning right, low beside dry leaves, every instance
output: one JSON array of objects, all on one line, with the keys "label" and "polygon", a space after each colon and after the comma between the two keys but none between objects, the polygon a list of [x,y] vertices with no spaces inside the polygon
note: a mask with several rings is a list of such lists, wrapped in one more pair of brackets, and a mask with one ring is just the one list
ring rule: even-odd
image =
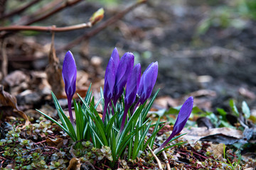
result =
[{"label": "lone purple crocus leaning right, low beside dry leaves", "polygon": [[171,132],[171,135],[168,137],[168,139],[157,149],[154,150],[154,153],[157,154],[161,151],[161,149],[169,143],[169,141],[177,135],[186,125],[186,122],[188,121],[189,116],[191,115],[191,111],[193,108],[193,96],[189,97],[185,103],[183,103],[183,106],[181,106],[181,111],[178,113],[178,118],[176,119],[176,122],[174,123],[174,130]]}]

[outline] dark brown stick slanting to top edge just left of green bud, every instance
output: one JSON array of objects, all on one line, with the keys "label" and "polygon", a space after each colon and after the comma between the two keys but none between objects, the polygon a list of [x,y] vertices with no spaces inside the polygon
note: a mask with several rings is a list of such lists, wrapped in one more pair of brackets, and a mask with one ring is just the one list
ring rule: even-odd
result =
[{"label": "dark brown stick slanting to top edge just left of green bud", "polygon": [[58,11],[61,11],[61,10],[63,10],[63,9],[66,8],[66,7],[70,7],[70,6],[73,6],[73,5],[75,5],[75,4],[78,4],[78,2],[80,2],[80,1],[82,1],[82,0],[66,1],[65,4],[63,4],[63,5],[61,5],[61,6],[57,7],[57,8],[55,8],[55,9],[53,9],[53,11],[50,11],[49,13],[46,13],[46,14],[44,14],[43,16],[39,16],[39,17],[36,18],[36,19],[32,19],[31,21],[28,21],[28,22],[25,23],[24,25],[25,25],[25,26],[29,26],[29,25],[31,25],[32,23],[36,23],[36,22],[38,22],[38,21],[42,21],[42,20],[48,18],[49,16],[52,16],[54,13],[58,13]]}]

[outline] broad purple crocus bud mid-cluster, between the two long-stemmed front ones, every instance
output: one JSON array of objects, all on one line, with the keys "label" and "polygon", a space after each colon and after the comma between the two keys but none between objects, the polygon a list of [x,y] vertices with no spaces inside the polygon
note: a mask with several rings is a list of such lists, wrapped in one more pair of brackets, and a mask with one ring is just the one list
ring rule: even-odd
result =
[{"label": "broad purple crocus bud mid-cluster, between the two long-stemmed front ones", "polygon": [[114,106],[116,105],[118,98],[124,92],[124,86],[127,84],[127,79],[132,72],[133,65],[134,55],[131,52],[124,53],[117,67],[117,74],[115,77],[113,96]]}]

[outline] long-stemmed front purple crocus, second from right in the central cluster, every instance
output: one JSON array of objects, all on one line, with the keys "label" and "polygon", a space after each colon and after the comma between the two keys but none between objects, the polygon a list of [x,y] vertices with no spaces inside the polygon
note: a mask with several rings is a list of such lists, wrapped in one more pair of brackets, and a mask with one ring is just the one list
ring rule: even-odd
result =
[{"label": "long-stemmed front purple crocus, second from right in the central cluster", "polygon": [[136,64],[134,68],[132,69],[132,74],[130,75],[129,79],[127,80],[127,88],[125,92],[125,98],[124,98],[124,115],[122,118],[122,124],[120,131],[124,129],[124,123],[127,118],[127,113],[129,111],[129,108],[132,106],[132,104],[135,101],[137,89],[139,88],[139,81],[141,79],[141,65]]}]

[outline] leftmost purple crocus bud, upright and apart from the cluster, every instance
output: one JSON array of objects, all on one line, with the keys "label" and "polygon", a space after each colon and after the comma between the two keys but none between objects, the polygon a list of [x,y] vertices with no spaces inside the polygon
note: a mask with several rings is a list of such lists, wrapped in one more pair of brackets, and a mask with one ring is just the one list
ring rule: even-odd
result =
[{"label": "leftmost purple crocus bud, upright and apart from the cluster", "polygon": [[68,112],[70,115],[70,122],[72,123],[72,125],[75,125],[71,109],[71,101],[75,94],[75,81],[77,77],[77,69],[74,57],[70,51],[68,51],[65,54],[62,75],[65,84],[65,93],[68,98]]}]

